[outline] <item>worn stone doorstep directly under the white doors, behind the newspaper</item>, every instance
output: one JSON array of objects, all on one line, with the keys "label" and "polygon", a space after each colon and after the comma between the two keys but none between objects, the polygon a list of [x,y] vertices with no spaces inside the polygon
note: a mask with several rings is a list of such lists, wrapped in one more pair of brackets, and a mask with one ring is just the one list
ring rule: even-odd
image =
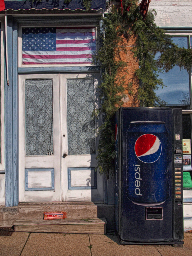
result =
[{"label": "worn stone doorstep directly under the white doors, behind the newspaper", "polygon": [[18,219],[43,219],[45,211],[65,211],[67,218],[98,217],[94,202],[31,202],[19,203],[14,207],[0,207],[0,224],[12,226]]}]

